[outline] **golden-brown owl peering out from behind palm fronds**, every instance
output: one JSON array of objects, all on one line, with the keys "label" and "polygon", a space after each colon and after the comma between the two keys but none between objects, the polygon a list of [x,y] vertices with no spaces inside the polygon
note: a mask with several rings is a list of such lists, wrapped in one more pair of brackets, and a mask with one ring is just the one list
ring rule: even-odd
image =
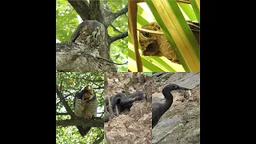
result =
[{"label": "golden-brown owl peering out from behind palm fronds", "polygon": [[[199,43],[200,27],[198,22],[187,21],[187,23]],[[138,28],[138,30],[140,30],[139,42],[142,46],[142,55],[157,57],[164,56],[170,59],[172,62],[180,64],[177,55],[171,48],[170,43],[168,42],[166,36],[162,33],[162,30],[157,22],[150,22],[148,25],[142,26],[142,29]]]}]

